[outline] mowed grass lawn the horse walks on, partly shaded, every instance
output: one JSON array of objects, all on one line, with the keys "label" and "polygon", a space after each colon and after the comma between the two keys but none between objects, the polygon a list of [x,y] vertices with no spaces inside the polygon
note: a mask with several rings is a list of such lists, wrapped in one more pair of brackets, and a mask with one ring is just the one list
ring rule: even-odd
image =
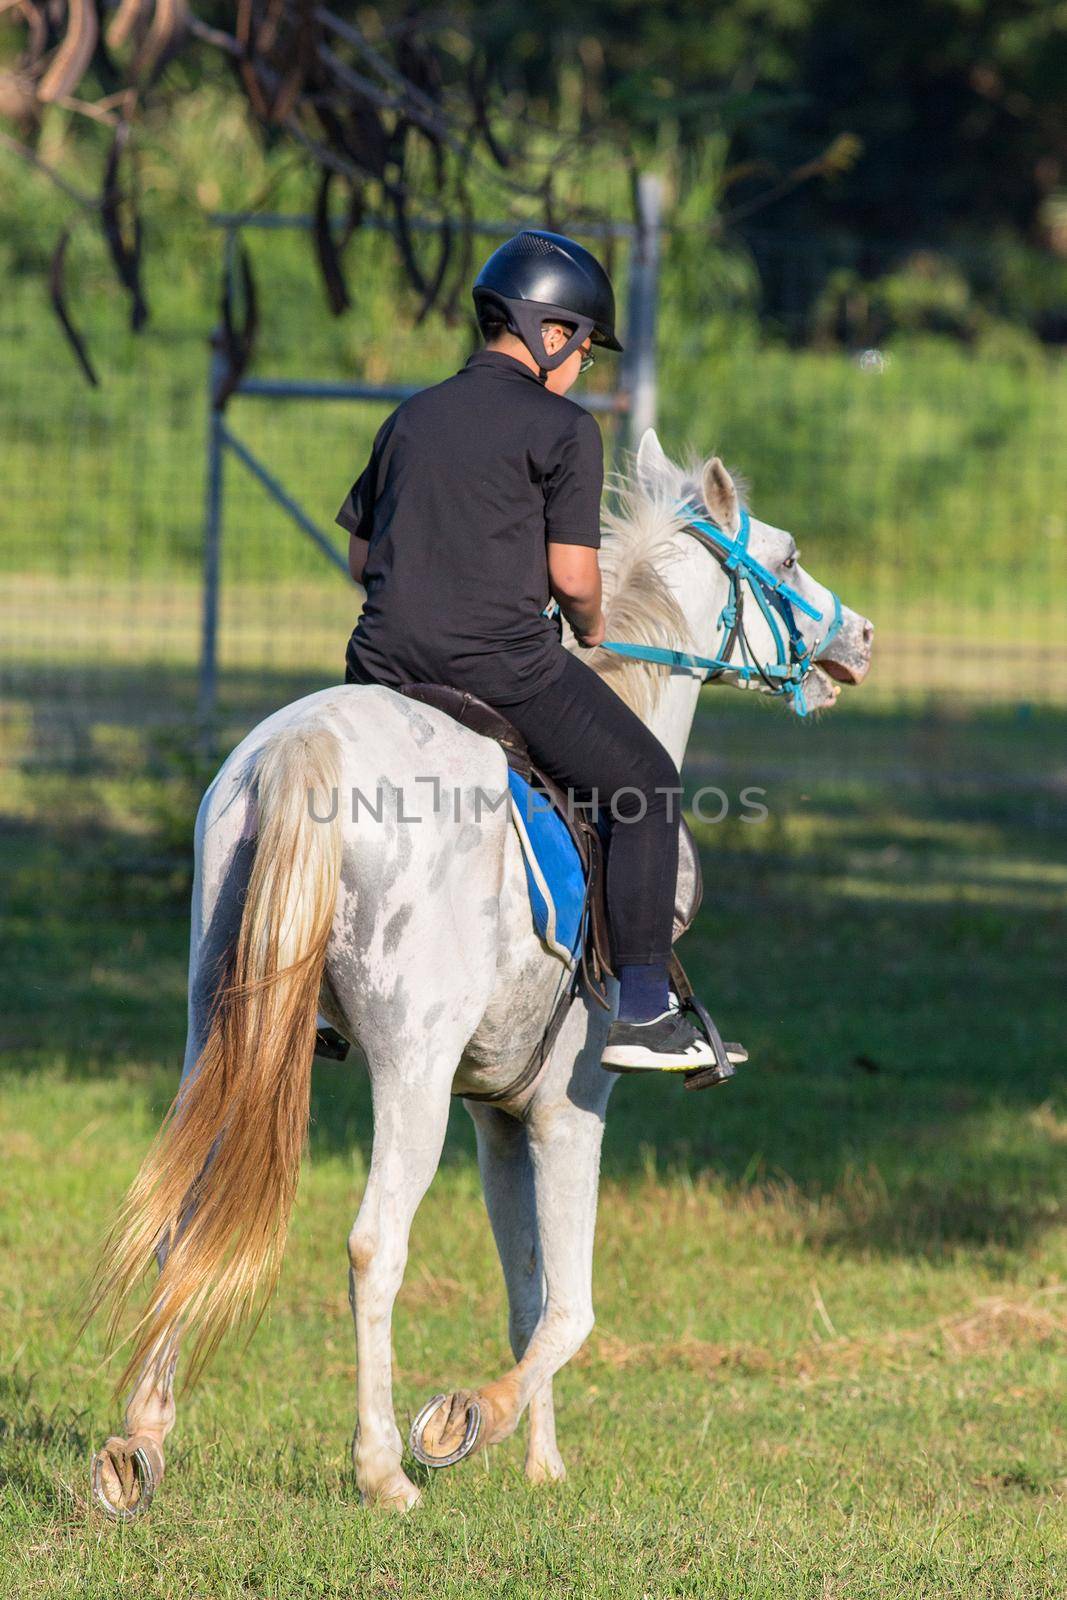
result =
[{"label": "mowed grass lawn the horse walks on, partly shaded", "polygon": [[[98,1336],[74,1344],[78,1285],[176,1082],[192,786],[11,784],[0,1594],[1067,1592],[1067,718],[765,710],[705,696],[689,776],[734,814],[701,826],[683,949],[752,1062],[613,1096],[598,1322],[557,1382],[569,1478],[528,1488],[512,1440],[406,1518],[365,1512],[349,1469],[371,1125],[358,1074],[325,1064],[269,1318],[179,1402],[150,1517],[90,1510],[120,1411]],[[509,1363],[461,1106],[395,1352],[402,1426]]]}]

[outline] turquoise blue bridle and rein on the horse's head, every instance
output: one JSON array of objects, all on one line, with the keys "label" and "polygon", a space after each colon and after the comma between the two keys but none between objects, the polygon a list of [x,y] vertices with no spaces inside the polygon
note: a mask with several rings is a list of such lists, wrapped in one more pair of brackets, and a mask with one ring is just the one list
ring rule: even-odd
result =
[{"label": "turquoise blue bridle and rein on the horse's head", "polygon": [[[680,509],[688,518],[685,531],[691,533],[712,552],[729,578],[729,597],[718,614],[721,635],[717,650],[720,653],[717,656],[694,656],[685,650],[667,650],[661,645],[630,645],[627,642],[609,642],[600,648],[609,650],[616,656],[627,656],[632,661],[653,661],[664,667],[693,667],[707,674],[705,682],[718,678],[725,672],[733,672],[744,683],[760,678],[771,694],[789,694],[797,715],[806,717],[805,678],[841,627],[840,598],[830,592],[833,621],[822,638],[816,645],[808,646],[797,626],[795,611],[803,611],[813,622],[822,621],[822,611],[813,606],[809,600],[805,600],[782,578],[776,578],[774,573],[752,555],[749,550],[749,512],[741,512],[741,530],[737,538],[731,539],[713,522],[699,515],[694,506],[686,502]],[[774,661],[760,664],[752,658],[744,630],[745,584],[747,592],[763,613],[763,619],[774,640]],[[731,659],[737,646],[741,646],[739,662]]]}]

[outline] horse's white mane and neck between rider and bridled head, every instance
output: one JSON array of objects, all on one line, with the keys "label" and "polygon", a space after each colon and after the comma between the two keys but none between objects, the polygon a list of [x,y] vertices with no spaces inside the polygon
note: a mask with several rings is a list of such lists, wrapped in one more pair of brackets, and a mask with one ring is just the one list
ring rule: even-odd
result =
[{"label": "horse's white mane and neck between rider and bridled head", "polygon": [[[693,648],[681,606],[662,574],[678,555],[678,533],[685,526],[678,501],[699,494],[701,470],[697,461],[677,467],[656,435],[646,434],[638,453],[627,458],[625,470],[611,475],[611,502],[600,518],[608,638]],[[667,667],[606,650],[593,650],[582,659],[638,717],[651,712],[669,677]]]}]

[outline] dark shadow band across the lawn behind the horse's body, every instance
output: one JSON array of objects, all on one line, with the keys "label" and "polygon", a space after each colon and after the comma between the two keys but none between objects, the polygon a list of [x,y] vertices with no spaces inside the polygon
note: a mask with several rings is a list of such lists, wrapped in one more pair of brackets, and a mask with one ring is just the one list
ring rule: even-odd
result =
[{"label": "dark shadow band across the lawn behind the horse's body", "polygon": [[[787,1178],[837,1197],[819,1242],[846,1251],[1021,1250],[1054,1222],[1062,1146],[1037,1114],[1061,1093],[1067,837],[1035,818],[1065,733],[1053,714],[931,728],[920,714],[849,712],[798,731],[702,709],[699,758],[728,792],[766,776],[774,802],[761,827],[702,830],[705,901],[683,947],[752,1062],[702,1094],[622,1080],[606,1176],[710,1171],[739,1192]],[[125,821],[112,798],[94,808],[123,784],[102,763],[82,790],[38,774],[42,803],[5,827],[0,1027],[8,1074],[117,1077],[162,1112],[184,1048],[202,773],[166,746],[152,762]],[[50,782],[66,787],[62,806]],[[366,1158],[370,1134],[362,1070],[317,1064],[314,1152]],[[472,1152],[456,1107],[445,1158]]]}]

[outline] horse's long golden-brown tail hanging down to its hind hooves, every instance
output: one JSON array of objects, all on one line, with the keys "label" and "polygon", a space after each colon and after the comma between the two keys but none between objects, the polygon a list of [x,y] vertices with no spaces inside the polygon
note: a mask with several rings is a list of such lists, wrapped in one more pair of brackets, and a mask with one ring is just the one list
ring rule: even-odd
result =
[{"label": "horse's long golden-brown tail hanging down to its hind hooves", "polygon": [[[115,1222],[90,1317],[109,1336],[152,1258],[123,1387],[194,1331],[195,1376],[227,1328],[262,1310],[282,1266],[307,1131],[315,1016],[341,874],[341,747],[325,726],[277,734],[256,763],[259,827],[240,931],[206,1043]],[[331,816],[317,821],[312,816]]]}]

